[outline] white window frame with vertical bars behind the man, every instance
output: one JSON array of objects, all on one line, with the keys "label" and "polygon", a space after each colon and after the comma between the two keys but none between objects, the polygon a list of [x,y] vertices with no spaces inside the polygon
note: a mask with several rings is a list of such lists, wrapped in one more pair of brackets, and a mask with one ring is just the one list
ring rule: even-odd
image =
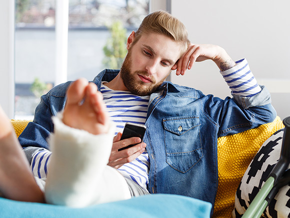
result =
[{"label": "white window frame with vertical bars behind the man", "polygon": [[[55,0],[55,85],[67,80],[68,0]],[[149,2],[149,11],[164,9],[170,12],[171,0]],[[10,119],[15,115],[15,0],[3,1],[0,7],[0,26],[8,29],[0,35],[0,105]],[[3,94],[5,93],[5,94]]]}]

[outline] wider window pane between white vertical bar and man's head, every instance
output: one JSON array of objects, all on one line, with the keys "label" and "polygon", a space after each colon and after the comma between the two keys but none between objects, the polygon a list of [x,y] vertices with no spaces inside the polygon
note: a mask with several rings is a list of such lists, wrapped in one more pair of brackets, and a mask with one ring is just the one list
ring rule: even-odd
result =
[{"label": "wider window pane between white vertical bar and man's head", "polygon": [[120,64],[104,63],[114,61],[105,57],[103,51],[111,37],[109,28],[120,22],[125,31],[122,38],[122,49],[125,49],[126,37],[136,30],[148,12],[149,0],[70,0],[68,80],[80,75],[92,80],[104,68],[119,68]]}]

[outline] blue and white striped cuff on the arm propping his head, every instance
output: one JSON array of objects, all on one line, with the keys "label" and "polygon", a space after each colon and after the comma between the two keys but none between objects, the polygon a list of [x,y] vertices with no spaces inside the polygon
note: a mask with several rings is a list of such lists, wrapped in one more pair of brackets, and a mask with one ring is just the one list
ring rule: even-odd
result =
[{"label": "blue and white striped cuff on the arm propping his head", "polygon": [[231,89],[232,94],[251,97],[261,91],[246,59],[236,61],[235,66],[225,71],[220,71],[220,73]]}]

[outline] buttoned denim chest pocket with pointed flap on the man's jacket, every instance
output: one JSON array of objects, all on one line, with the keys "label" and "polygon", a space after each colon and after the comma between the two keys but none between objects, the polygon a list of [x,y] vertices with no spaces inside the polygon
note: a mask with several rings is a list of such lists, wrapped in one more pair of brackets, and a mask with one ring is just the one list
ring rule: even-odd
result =
[{"label": "buttoned denim chest pocket with pointed flap on the man's jacket", "polygon": [[198,116],[163,118],[166,162],[180,172],[187,172],[202,157]]}]

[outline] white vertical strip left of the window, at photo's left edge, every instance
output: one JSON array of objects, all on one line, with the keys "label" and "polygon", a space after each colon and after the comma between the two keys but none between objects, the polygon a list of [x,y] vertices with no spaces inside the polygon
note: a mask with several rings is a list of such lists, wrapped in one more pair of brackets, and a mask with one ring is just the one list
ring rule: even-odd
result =
[{"label": "white vertical strip left of the window, at photo's left edge", "polygon": [[0,105],[14,117],[14,0],[0,6]]}]

